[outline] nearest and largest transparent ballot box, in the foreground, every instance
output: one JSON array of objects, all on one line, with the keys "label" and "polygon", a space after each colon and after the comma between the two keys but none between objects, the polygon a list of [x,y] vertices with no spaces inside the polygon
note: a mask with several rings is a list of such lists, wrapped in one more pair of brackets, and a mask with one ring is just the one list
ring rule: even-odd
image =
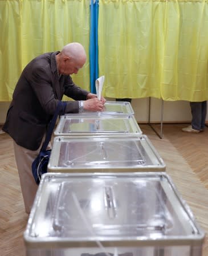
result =
[{"label": "nearest and largest transparent ballot box, in the foreground", "polygon": [[201,256],[205,233],[165,172],[46,173],[27,256]]}]

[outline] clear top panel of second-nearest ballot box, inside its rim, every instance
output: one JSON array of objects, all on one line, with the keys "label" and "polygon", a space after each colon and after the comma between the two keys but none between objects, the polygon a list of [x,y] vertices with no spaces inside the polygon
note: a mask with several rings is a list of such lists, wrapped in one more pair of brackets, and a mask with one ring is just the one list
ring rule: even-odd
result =
[{"label": "clear top panel of second-nearest ballot box, inside its rim", "polygon": [[140,140],[99,139],[60,141],[59,167],[95,168],[96,166],[151,165]]}]

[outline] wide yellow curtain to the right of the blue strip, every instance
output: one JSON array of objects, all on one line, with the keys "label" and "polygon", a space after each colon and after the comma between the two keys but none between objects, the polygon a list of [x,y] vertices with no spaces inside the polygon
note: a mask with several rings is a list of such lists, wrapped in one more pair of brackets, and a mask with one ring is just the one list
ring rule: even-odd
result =
[{"label": "wide yellow curtain to the right of the blue strip", "polygon": [[100,0],[104,96],[208,99],[208,4]]}]

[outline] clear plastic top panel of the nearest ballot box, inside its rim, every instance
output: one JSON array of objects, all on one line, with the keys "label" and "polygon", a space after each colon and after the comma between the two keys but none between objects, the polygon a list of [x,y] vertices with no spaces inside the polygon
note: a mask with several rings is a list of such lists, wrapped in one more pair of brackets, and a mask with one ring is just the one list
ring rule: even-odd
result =
[{"label": "clear plastic top panel of the nearest ballot box, inside its rim", "polygon": [[197,234],[171,186],[159,178],[71,177],[45,184],[42,196],[31,226],[39,238],[157,241]]}]

